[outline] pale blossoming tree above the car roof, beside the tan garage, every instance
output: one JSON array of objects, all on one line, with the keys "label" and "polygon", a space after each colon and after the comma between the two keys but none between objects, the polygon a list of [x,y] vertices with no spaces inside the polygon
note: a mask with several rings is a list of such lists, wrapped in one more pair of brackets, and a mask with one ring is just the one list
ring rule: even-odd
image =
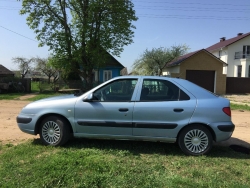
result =
[{"label": "pale blossoming tree above the car roof, beside the tan garage", "polygon": [[138,75],[160,76],[167,63],[184,55],[188,49],[186,45],[146,49],[141,57],[134,62],[132,72]]}]

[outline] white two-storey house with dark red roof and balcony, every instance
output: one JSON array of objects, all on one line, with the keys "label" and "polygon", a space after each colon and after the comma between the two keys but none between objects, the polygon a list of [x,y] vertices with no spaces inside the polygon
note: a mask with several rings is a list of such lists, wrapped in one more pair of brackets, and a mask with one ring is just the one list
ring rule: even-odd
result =
[{"label": "white two-storey house with dark red roof and balcony", "polygon": [[250,32],[230,39],[222,37],[206,50],[227,63],[223,68],[227,77],[250,77]]}]

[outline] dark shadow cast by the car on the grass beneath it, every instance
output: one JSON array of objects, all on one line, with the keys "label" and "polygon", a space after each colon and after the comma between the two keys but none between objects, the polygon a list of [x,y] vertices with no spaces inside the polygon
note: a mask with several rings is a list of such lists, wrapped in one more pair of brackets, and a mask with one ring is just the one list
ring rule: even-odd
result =
[{"label": "dark shadow cast by the car on the grass beneath it", "polygon": [[[42,145],[40,139],[34,139],[34,145]],[[99,149],[103,151],[129,151],[131,155],[158,154],[185,156],[176,143],[129,141],[129,140],[108,140],[108,139],[86,139],[72,138],[63,148],[69,149]],[[228,146],[214,145],[207,157],[223,157],[232,159],[249,159],[248,154],[235,152]]]}]

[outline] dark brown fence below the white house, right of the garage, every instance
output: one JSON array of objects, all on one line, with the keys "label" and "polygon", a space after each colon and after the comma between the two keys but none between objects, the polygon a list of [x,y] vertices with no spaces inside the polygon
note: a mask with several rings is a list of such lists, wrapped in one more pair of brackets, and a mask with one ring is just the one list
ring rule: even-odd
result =
[{"label": "dark brown fence below the white house, right of the garage", "polygon": [[227,77],[226,93],[250,93],[250,78]]}]

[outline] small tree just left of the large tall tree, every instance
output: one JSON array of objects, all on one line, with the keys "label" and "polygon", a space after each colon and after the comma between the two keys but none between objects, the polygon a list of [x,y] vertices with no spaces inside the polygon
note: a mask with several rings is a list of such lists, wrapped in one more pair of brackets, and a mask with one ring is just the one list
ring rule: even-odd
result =
[{"label": "small tree just left of the large tall tree", "polygon": [[55,69],[51,62],[50,58],[34,58],[36,62],[36,70],[42,72],[48,77],[48,83],[50,84],[51,77],[53,77],[53,83],[55,83],[59,78],[59,71]]}]

